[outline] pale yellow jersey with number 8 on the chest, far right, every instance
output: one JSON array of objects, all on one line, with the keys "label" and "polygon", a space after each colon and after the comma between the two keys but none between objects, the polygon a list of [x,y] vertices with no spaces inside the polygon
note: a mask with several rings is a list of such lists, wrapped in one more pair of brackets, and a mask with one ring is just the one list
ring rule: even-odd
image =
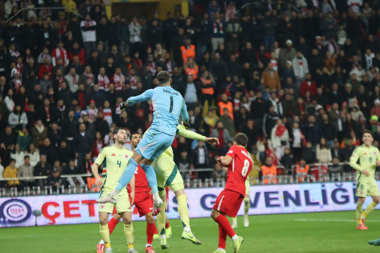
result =
[{"label": "pale yellow jersey with number 8 on the chest, far right", "polygon": [[360,171],[356,171],[356,182],[372,182],[375,180],[376,161],[380,161],[380,152],[377,147],[366,147],[361,145],[357,147],[352,155],[351,161],[359,163],[360,167],[368,171],[369,177],[362,175]]}]

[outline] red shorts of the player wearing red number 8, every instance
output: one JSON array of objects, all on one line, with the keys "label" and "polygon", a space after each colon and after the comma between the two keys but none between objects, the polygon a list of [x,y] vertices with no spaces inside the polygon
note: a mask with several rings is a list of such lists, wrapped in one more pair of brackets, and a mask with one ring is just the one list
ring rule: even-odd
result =
[{"label": "red shorts of the player wearing red number 8", "polygon": [[230,217],[236,217],[243,199],[244,196],[242,194],[236,191],[223,189],[218,198],[216,198],[212,208]]}]

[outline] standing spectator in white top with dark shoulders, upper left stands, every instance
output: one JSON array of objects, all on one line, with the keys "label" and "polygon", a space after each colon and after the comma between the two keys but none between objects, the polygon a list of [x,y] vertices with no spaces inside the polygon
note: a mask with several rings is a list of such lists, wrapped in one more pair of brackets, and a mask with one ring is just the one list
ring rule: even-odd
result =
[{"label": "standing spectator in white top with dark shoulders, upper left stands", "polygon": [[[90,2],[87,0],[87,2]],[[81,33],[84,44],[86,59],[90,58],[90,53],[96,49],[96,22],[91,19],[90,14],[86,14],[81,22]]]}]

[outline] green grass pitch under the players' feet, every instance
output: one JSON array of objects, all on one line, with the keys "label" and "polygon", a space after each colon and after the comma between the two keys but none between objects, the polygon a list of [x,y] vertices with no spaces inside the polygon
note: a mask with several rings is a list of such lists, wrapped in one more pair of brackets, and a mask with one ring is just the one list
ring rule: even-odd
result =
[{"label": "green grass pitch under the players' feet", "polygon": [[[250,225],[243,226],[243,218],[237,217],[239,228],[235,229],[244,237],[241,253],[253,252],[380,252],[380,247],[367,244],[368,240],[380,236],[380,211],[375,210],[366,220],[367,231],[356,230],[355,211],[293,213],[276,215],[250,215]],[[168,239],[172,253],[210,252],[218,246],[218,226],[211,218],[190,219],[192,231],[202,245],[193,245],[181,240],[180,220],[170,220],[173,236]],[[136,221],[135,248],[144,252],[146,244],[146,222]],[[100,240],[99,225],[56,225],[27,228],[2,228],[2,252],[96,252]],[[111,235],[112,250],[127,252],[123,225],[118,224]],[[164,252],[159,241],[153,241],[157,253]],[[227,237],[227,253],[231,239]]]}]

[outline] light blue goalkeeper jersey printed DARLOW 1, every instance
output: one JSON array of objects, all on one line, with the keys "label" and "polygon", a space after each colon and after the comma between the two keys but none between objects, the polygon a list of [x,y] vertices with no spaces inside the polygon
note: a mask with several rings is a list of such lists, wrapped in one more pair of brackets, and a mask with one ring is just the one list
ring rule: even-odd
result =
[{"label": "light blue goalkeeper jersey printed DARLOW 1", "polygon": [[128,98],[127,104],[131,106],[138,102],[152,100],[153,122],[151,128],[169,134],[176,135],[179,115],[187,123],[189,115],[187,113],[185,100],[182,95],[170,86],[156,87],[146,90],[139,96]]}]

